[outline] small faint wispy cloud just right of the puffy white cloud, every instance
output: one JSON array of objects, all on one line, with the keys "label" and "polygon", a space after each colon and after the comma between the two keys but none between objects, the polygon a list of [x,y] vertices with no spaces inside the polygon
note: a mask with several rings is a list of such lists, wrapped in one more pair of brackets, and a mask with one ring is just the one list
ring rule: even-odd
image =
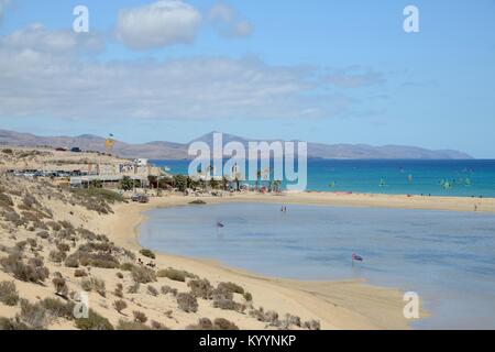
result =
[{"label": "small faint wispy cloud just right of the puffy white cloud", "polygon": [[251,22],[240,19],[235,9],[223,2],[217,2],[211,7],[208,19],[222,36],[242,37],[253,32]]}]

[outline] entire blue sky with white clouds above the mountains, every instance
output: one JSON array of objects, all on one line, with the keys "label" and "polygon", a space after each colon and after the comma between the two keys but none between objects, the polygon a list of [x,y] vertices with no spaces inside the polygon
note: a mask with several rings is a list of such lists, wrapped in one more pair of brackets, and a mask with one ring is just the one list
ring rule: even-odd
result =
[{"label": "entire blue sky with white clouds above the mountains", "polygon": [[[77,4],[88,34],[72,32]],[[152,4],[0,0],[0,128],[128,142],[220,130],[495,157],[493,0]],[[403,30],[408,4],[419,33]]]}]

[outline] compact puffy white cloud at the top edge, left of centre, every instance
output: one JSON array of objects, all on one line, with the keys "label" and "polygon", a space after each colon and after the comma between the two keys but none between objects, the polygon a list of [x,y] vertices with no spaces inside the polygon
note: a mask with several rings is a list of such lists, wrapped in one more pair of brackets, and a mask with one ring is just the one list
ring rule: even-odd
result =
[{"label": "compact puffy white cloud at the top edge, left of centre", "polygon": [[200,13],[180,0],[161,0],[121,10],[117,37],[132,50],[150,50],[190,43],[201,22]]}]

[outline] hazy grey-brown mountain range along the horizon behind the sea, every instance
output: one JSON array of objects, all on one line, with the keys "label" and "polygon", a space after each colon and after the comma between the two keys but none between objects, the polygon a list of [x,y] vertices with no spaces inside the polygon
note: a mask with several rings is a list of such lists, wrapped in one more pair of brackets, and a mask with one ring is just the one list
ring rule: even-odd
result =
[{"label": "hazy grey-brown mountain range along the horizon behind the sea", "polygon": [[[204,141],[212,145],[213,133],[205,134],[195,141]],[[73,147],[78,146],[86,151],[105,152],[105,138],[82,134],[78,136],[37,136],[31,133],[19,133],[0,130],[0,144],[16,146],[52,146]],[[248,145],[249,139],[223,133],[223,143],[238,141]],[[194,142],[194,141],[191,141]],[[130,144],[116,141],[113,154],[121,157],[146,157],[154,160],[185,160],[189,158],[187,148],[189,143],[150,142],[143,144]],[[439,150],[432,151],[417,146],[384,145],[372,146],[366,144],[322,144],[308,143],[308,158],[351,158],[351,160],[470,160],[471,155],[459,151]]]}]

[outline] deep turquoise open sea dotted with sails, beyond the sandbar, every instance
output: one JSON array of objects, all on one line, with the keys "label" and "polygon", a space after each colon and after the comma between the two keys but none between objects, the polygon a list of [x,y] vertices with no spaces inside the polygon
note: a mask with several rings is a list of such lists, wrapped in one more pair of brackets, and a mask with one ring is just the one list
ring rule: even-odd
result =
[{"label": "deep turquoise open sea dotted with sails, beyond the sandbar", "polygon": [[[154,161],[187,174],[188,161]],[[495,197],[495,161],[308,161],[308,190]]]}]

